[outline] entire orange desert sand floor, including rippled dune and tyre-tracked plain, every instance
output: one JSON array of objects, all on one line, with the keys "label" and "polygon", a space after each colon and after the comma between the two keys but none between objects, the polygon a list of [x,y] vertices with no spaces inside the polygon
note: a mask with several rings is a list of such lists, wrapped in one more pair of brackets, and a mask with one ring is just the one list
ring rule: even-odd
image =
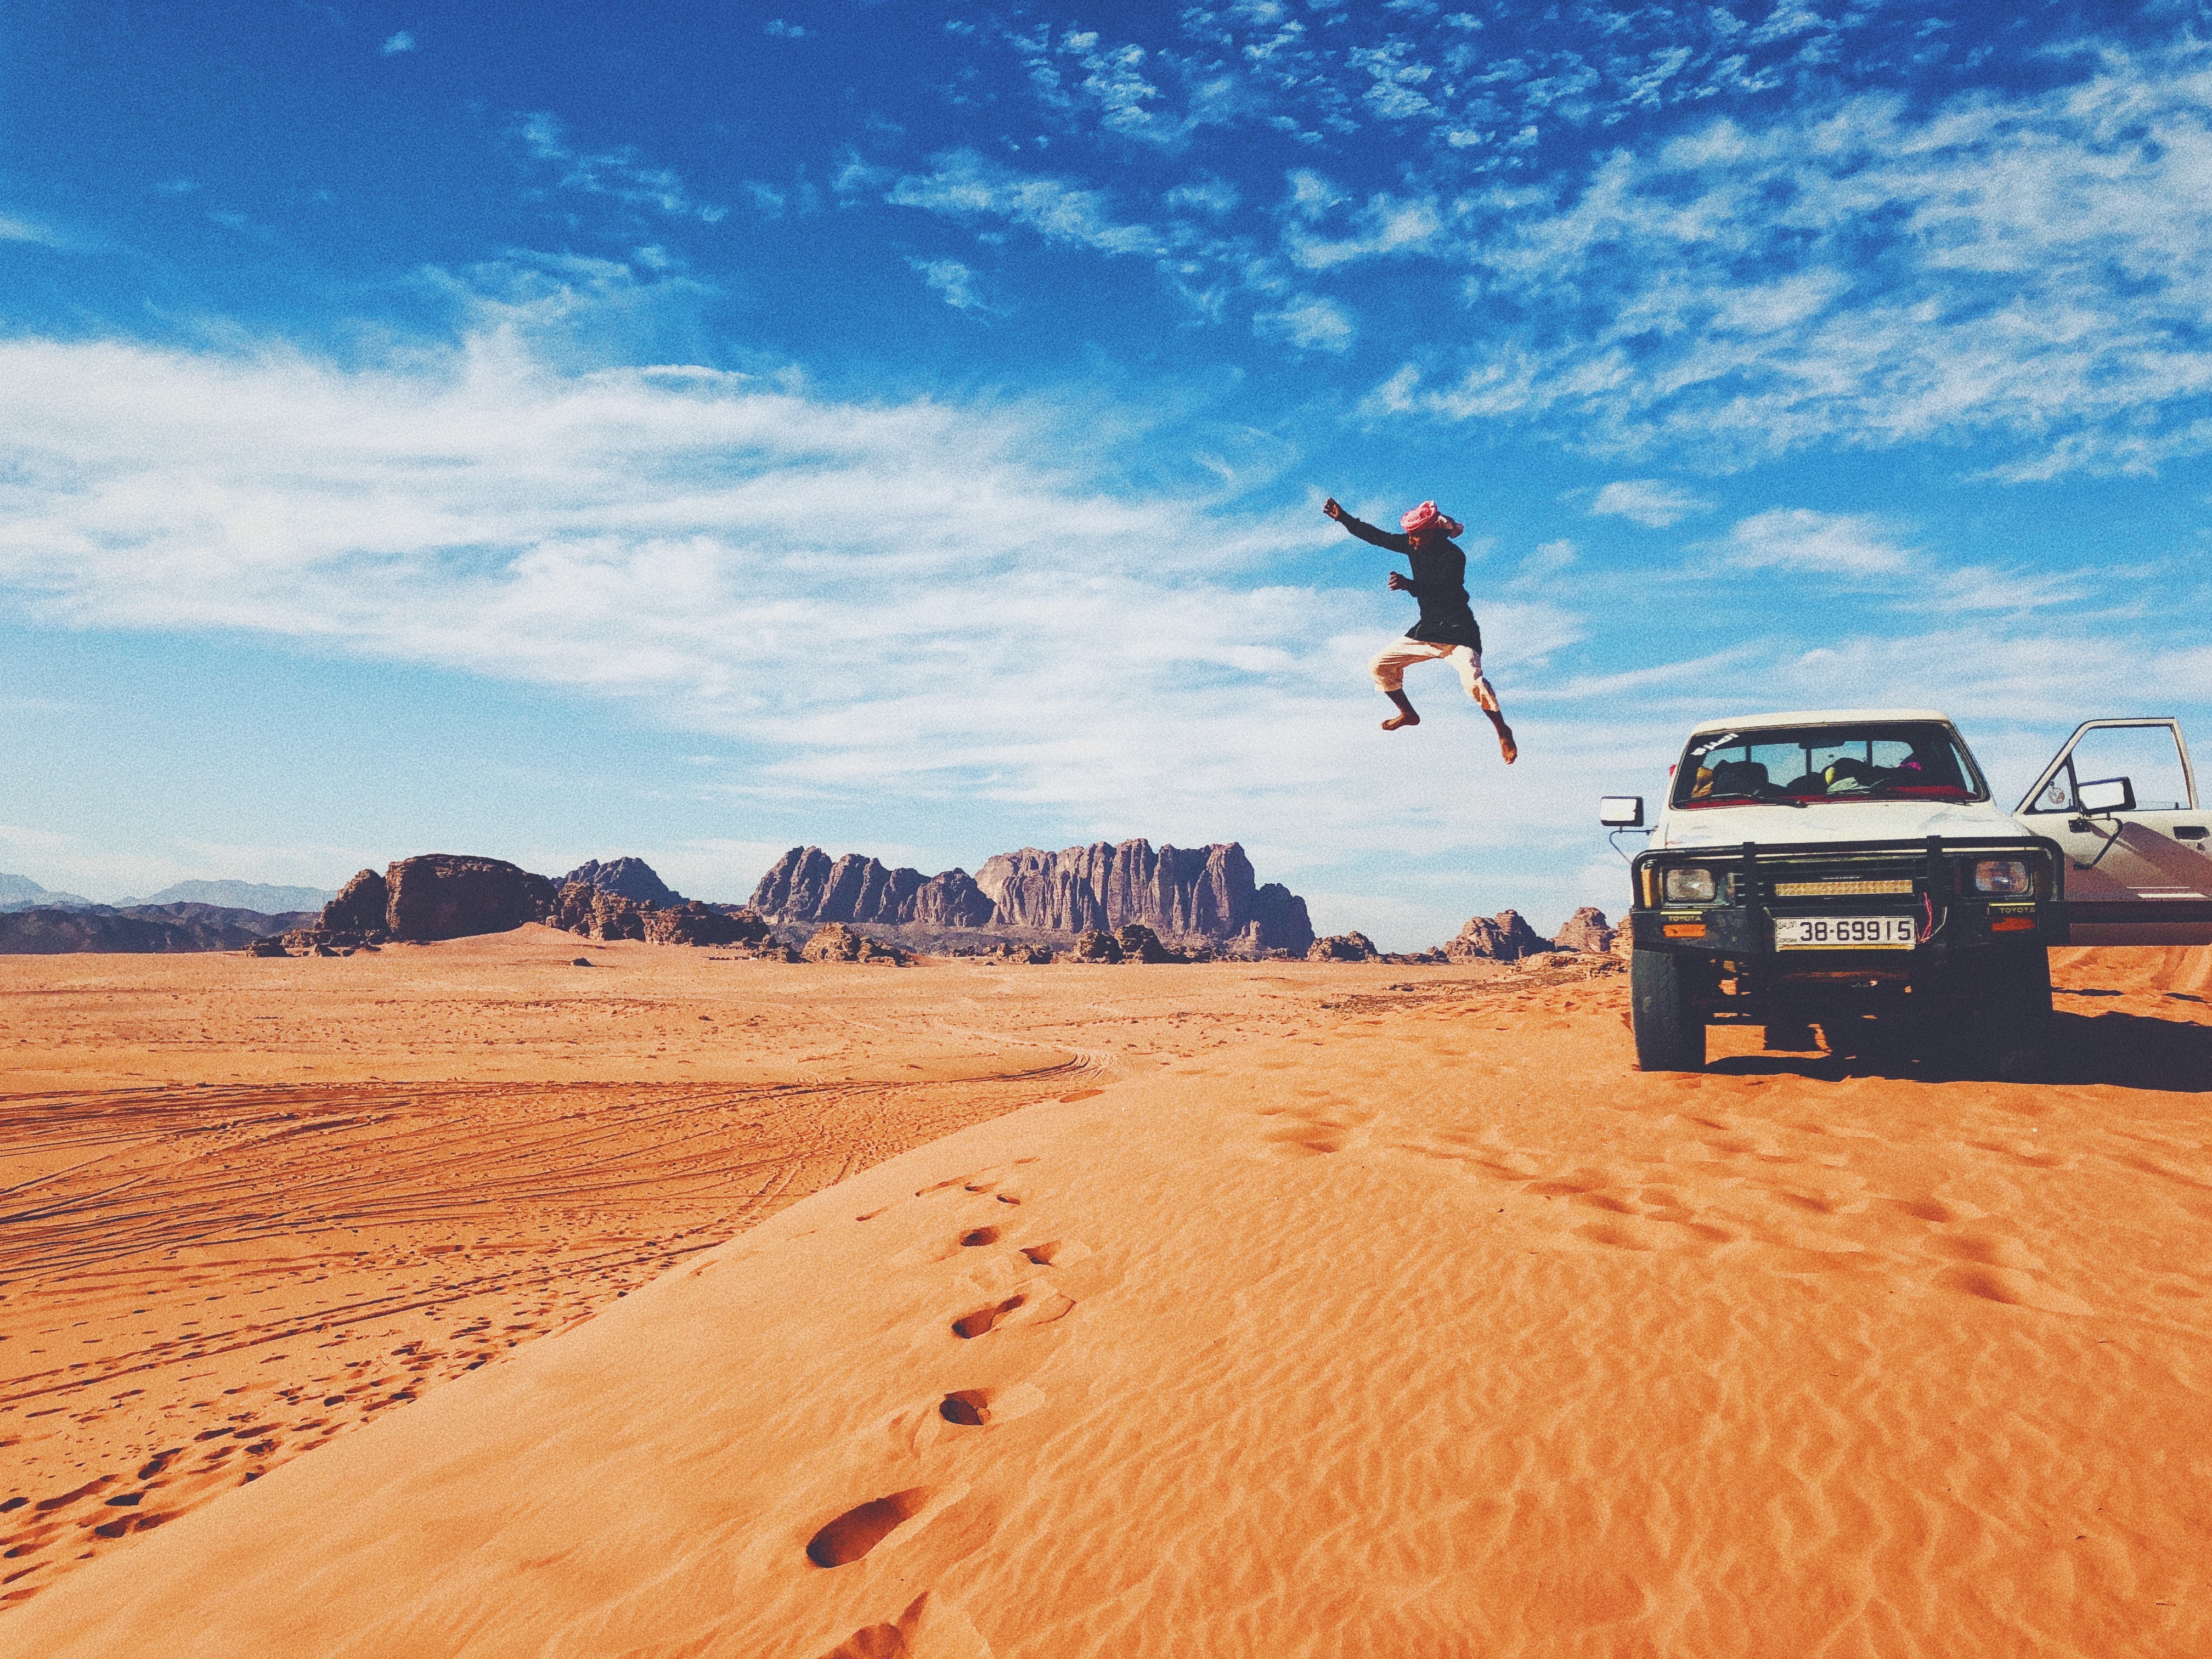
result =
[{"label": "entire orange desert sand floor, including rippled dune and tyre-tracked plain", "polygon": [[2212,1650],[2212,951],[2042,1084],[573,953],[0,964],[0,1655]]}]

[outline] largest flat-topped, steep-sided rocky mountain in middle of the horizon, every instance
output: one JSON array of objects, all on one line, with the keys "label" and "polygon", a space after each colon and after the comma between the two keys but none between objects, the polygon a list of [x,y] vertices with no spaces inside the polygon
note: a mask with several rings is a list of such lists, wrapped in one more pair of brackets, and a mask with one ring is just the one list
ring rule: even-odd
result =
[{"label": "largest flat-topped, steep-sided rocky mountain in middle of the horizon", "polygon": [[1022,847],[989,858],[975,876],[947,869],[927,878],[858,854],[832,860],[821,847],[792,847],[761,876],[752,907],[776,922],[1064,936],[1135,922],[1161,940],[1298,956],[1314,942],[1305,900],[1276,883],[1259,887],[1237,843]]}]

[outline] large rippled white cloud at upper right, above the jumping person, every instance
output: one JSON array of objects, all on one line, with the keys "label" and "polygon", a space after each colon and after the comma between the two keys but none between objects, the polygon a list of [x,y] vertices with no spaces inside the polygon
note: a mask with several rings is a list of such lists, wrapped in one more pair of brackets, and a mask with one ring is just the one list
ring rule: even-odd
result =
[{"label": "large rippled white cloud at upper right, above the jumping person", "polygon": [[1484,332],[1371,407],[1717,469],[1966,436],[2015,445],[2006,478],[2154,469],[2212,447],[2208,111],[2212,46],[2108,51],[2053,91],[1719,119],[1478,192],[1422,250],[1471,261]]}]

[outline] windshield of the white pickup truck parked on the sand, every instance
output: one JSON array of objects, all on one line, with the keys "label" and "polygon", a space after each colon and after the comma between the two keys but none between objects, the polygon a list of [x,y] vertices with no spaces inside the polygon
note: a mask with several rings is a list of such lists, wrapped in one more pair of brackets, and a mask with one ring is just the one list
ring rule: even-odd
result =
[{"label": "windshield of the white pickup truck parked on the sand", "polygon": [[1973,757],[1938,721],[1699,732],[1674,768],[1677,807],[1745,801],[1986,801]]}]

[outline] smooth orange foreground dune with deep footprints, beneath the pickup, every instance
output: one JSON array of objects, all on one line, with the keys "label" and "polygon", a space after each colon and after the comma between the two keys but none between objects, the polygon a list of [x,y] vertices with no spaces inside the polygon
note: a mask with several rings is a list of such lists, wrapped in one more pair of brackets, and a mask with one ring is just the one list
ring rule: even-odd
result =
[{"label": "smooth orange foreground dune with deep footprints, beneath the pickup", "polygon": [[2212,1652],[2203,958],[2066,958],[2037,1086],[1219,969],[1265,1031],[814,1192],[0,1655]]}]

